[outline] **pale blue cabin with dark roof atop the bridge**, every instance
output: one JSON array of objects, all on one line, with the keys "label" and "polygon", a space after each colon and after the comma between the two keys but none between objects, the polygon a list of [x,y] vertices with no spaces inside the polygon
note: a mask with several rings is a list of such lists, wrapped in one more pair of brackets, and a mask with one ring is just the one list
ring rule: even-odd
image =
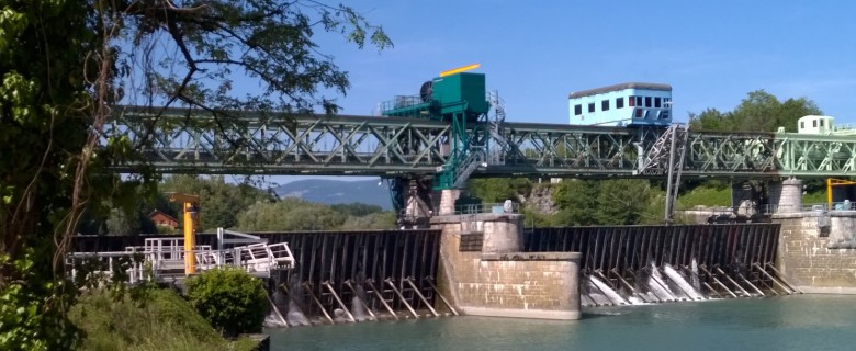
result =
[{"label": "pale blue cabin with dark roof atop the bridge", "polygon": [[571,93],[571,124],[668,126],[672,86],[629,82]]}]

